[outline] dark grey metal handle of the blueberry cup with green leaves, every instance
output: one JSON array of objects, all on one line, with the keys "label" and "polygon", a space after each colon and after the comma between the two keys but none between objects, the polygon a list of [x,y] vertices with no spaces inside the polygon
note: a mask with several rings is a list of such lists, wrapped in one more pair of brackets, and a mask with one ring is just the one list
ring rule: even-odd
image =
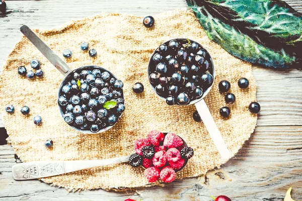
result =
[{"label": "dark grey metal handle of the blueberry cup with green leaves", "polygon": [[20,31],[64,76],[71,71],[69,66],[56,55],[28,26],[23,25]]}]

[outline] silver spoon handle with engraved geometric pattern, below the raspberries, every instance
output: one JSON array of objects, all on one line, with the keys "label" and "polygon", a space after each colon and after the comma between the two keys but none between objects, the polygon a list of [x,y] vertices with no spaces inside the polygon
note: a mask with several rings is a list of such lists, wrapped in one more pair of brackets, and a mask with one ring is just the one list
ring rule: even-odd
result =
[{"label": "silver spoon handle with engraved geometric pattern, below the raspberries", "polygon": [[127,162],[130,155],[103,160],[34,161],[13,166],[16,180],[37,179],[83,169]]}]

